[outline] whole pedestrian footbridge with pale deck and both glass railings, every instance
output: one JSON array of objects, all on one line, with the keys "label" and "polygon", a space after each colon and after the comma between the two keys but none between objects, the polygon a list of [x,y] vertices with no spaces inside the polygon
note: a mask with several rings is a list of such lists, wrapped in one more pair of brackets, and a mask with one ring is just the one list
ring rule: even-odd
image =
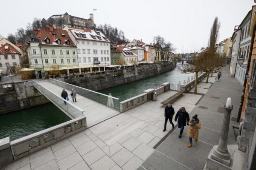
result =
[{"label": "whole pedestrian footbridge with pale deck and both glass railings", "polygon": [[[56,79],[47,81],[33,80],[33,85],[71,119],[86,116],[87,127],[96,125],[120,113],[119,99],[112,96],[100,94]],[[69,101],[61,98],[63,89],[67,91],[70,98]],[[77,102],[73,102],[70,96],[72,89],[76,91]],[[64,101],[67,102],[67,105],[64,104]]]}]

